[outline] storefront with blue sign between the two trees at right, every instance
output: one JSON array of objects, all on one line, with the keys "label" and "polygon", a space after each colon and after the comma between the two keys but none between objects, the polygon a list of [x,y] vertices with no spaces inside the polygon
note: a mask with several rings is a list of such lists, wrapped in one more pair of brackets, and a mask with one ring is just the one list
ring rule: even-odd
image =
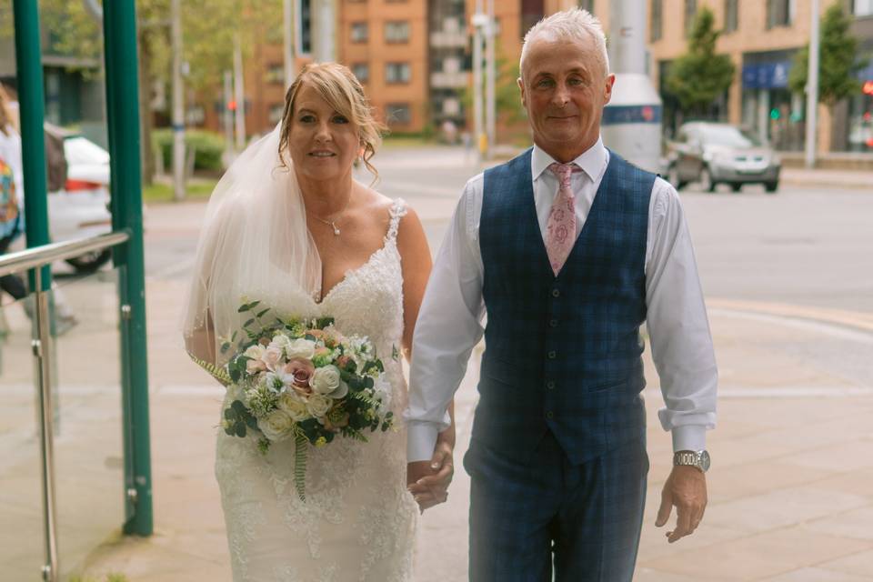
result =
[{"label": "storefront with blue sign between the two trees at right", "polygon": [[804,143],[803,95],[788,89],[795,51],[743,55],[742,123],[781,151],[799,151]]}]

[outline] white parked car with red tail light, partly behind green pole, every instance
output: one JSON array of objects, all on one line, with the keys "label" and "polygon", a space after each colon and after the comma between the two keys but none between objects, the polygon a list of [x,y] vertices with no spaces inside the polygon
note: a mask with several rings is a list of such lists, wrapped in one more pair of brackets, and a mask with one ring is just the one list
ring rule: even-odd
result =
[{"label": "white parked car with red tail light, partly behind green pole", "polygon": [[[64,135],[66,182],[48,193],[52,240],[61,242],[112,230],[109,212],[109,152],[81,135]],[[80,273],[91,273],[112,258],[105,249],[66,262]]]}]

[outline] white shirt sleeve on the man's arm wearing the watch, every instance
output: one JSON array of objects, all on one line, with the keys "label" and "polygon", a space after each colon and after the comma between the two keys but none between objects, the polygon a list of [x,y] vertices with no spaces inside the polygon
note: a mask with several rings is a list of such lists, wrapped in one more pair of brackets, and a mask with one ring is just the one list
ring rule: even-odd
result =
[{"label": "white shirt sleeve on the man's arm wearing the watch", "polygon": [[647,328],[666,405],[658,418],[672,433],[674,451],[700,450],[716,425],[716,356],[685,213],[676,190],[660,178],[648,236]]}]

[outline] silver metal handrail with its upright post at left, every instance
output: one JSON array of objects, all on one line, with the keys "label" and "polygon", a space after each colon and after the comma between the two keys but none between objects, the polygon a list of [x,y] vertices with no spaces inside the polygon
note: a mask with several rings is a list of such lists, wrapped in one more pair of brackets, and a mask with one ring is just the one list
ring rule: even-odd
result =
[{"label": "silver metal handrail with its upright post at left", "polygon": [[[56,582],[60,577],[57,551],[57,513],[55,508],[55,452],[53,430],[53,403],[51,386],[52,329],[49,308],[50,290],[43,289],[44,266],[55,261],[123,245],[130,239],[127,232],[94,236],[65,243],[37,246],[24,251],[0,256],[0,276],[32,270],[35,299],[35,321],[31,346],[36,364],[36,392],[39,406],[39,452],[42,473],[43,532],[45,565],[43,579]],[[122,306],[124,310],[124,306]]]}]

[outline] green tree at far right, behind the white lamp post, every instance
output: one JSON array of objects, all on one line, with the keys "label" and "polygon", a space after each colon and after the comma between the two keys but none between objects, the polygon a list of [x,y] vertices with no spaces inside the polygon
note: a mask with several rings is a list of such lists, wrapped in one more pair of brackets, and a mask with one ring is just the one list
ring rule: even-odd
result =
[{"label": "green tree at far right, behind the white lamp post", "polygon": [[[832,106],[840,99],[855,95],[861,88],[858,72],[867,60],[857,60],[858,38],[849,32],[851,20],[841,4],[828,8],[819,31],[818,103]],[[797,93],[807,88],[809,45],[798,51],[788,74],[788,87]]]}]

